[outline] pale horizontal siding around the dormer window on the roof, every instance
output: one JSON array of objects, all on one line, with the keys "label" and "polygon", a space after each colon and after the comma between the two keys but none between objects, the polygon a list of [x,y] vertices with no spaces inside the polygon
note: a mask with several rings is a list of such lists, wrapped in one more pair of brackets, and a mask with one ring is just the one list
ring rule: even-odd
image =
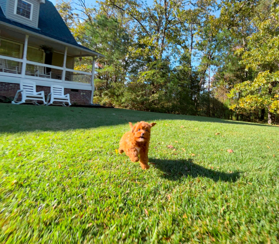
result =
[{"label": "pale horizontal siding around the dormer window on the roof", "polygon": [[26,0],[26,1],[33,4],[32,20],[29,20],[28,18],[24,18],[22,16],[14,14],[16,0],[9,1],[9,6],[7,6],[8,7],[7,8],[7,18],[13,19],[22,24],[26,24],[26,25],[38,28],[38,16],[39,16],[38,12],[40,9],[40,3],[38,2],[38,0]]}]

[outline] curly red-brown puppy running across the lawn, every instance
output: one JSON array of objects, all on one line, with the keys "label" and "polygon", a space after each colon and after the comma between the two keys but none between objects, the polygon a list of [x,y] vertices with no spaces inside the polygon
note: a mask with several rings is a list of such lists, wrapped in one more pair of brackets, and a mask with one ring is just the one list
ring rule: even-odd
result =
[{"label": "curly red-brown puppy running across the lawn", "polygon": [[156,123],[146,123],[144,121],[136,123],[134,126],[129,122],[131,131],[126,132],[120,142],[118,152],[123,152],[129,156],[132,162],[138,162],[142,169],[149,169],[148,146],[150,140],[150,129]]}]

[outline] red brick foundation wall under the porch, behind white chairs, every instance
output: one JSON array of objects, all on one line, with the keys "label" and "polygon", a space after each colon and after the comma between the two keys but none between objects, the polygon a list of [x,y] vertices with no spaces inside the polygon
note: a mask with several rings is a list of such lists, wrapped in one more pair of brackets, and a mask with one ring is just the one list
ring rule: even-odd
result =
[{"label": "red brick foundation wall under the porch, behind white chairs", "polygon": [[[14,98],[15,94],[17,93],[17,90],[19,90],[19,84],[0,82],[0,96],[5,96],[7,98]],[[89,101],[91,98],[91,91],[78,90],[78,92],[73,92],[71,90],[72,89],[64,88],[64,93],[70,94],[70,101],[71,101],[72,105],[89,104]],[[48,94],[50,93],[50,87],[49,86],[36,86],[36,91],[37,92],[44,91],[45,97],[47,98]],[[81,94],[81,93],[84,93],[84,94]],[[21,99],[21,95],[19,95],[19,99]]]}]

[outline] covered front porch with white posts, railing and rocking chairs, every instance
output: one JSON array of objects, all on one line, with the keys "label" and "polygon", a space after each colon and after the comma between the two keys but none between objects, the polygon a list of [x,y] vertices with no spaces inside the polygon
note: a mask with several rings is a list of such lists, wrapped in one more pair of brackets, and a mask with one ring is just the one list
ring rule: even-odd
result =
[{"label": "covered front porch with white posts, railing and rocking chairs", "polygon": [[[95,59],[98,53],[51,38],[1,28],[0,82],[19,84],[33,80],[39,86],[59,84],[68,89],[91,91],[93,101]],[[92,68],[76,70],[75,61],[91,56]]]}]

